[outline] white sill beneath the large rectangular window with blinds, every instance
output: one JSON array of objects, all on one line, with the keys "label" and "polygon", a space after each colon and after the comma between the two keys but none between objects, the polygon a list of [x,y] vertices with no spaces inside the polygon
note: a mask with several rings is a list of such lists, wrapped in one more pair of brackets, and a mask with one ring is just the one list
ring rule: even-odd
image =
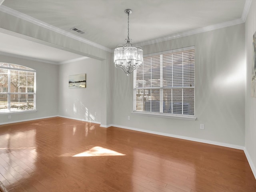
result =
[{"label": "white sill beneath the large rectangular window with blinds", "polygon": [[156,112],[132,112],[134,115],[143,115],[143,116],[154,116],[154,117],[163,117],[163,118],[173,118],[173,119],[182,119],[182,120],[191,120],[195,121],[196,117],[194,115],[175,115],[175,114],[162,114]]}]

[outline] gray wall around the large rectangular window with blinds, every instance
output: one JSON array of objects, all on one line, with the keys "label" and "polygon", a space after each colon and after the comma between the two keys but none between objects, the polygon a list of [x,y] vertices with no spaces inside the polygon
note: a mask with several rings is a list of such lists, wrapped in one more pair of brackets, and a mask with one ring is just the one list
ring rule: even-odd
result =
[{"label": "gray wall around the large rectangular window with blinds", "polygon": [[[146,132],[244,146],[244,24],[151,44],[143,50],[149,54],[187,46],[195,46],[197,120],[132,114],[133,77],[112,67],[112,123]],[[200,124],[204,124],[204,130],[200,130]]]}]

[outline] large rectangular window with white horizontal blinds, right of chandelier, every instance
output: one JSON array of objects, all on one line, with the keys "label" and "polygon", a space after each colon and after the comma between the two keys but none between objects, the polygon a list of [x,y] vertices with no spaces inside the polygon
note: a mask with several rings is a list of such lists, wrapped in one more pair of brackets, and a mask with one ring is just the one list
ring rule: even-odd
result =
[{"label": "large rectangular window with white horizontal blinds, right of chandelier", "polygon": [[151,54],[134,71],[134,112],[194,116],[194,47]]}]

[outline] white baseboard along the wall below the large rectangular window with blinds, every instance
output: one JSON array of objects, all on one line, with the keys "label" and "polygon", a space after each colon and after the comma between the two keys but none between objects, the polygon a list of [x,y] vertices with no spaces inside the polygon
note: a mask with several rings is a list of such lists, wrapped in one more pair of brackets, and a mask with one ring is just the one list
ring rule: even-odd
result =
[{"label": "white baseboard along the wall below the large rectangular window with blinds", "polygon": [[180,136],[180,135],[174,135],[174,134],[168,134],[168,133],[162,133],[162,132],[156,132],[156,131],[150,131],[150,130],[144,130],[144,129],[137,129],[137,128],[121,126],[121,125],[114,125],[114,124],[108,125],[108,127],[110,127],[110,126],[123,128],[123,129],[128,129],[128,130],[140,131],[140,132],[145,132],[145,133],[151,133],[151,134],[156,134],[156,135],[174,137],[174,138],[178,138],[178,139],[196,141],[196,142],[200,142],[200,143],[206,143],[206,144],[212,144],[212,145],[218,145],[218,146],[223,146],[223,147],[229,147],[229,148],[244,150],[244,146],[240,146],[240,145],[233,145],[233,144],[228,144],[228,143],[222,143],[222,142],[216,142],[216,141],[210,141],[210,140],[204,140],[204,139],[198,139],[198,138],[192,138],[192,137],[186,137],[186,136]]}]

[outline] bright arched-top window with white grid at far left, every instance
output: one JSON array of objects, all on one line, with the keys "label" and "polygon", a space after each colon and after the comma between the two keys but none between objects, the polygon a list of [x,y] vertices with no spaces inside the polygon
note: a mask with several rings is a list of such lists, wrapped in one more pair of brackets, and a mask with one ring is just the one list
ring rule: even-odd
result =
[{"label": "bright arched-top window with white grid at far left", "polygon": [[0,113],[36,109],[36,71],[0,62]]}]

